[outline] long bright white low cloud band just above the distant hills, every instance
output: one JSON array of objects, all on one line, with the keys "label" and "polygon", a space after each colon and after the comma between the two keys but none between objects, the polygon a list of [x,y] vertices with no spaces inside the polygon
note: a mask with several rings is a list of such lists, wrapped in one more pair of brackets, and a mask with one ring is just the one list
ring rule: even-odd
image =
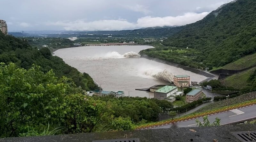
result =
[{"label": "long bright white low cloud band just above the distant hills", "polygon": [[127,30],[135,28],[155,27],[155,26],[181,26],[194,23],[203,19],[209,12],[203,13],[185,13],[182,16],[151,17],[139,18],[136,23],[128,22],[125,19],[118,20],[98,20],[86,22],[84,20],[76,21],[58,21],[47,22],[46,25],[62,26],[68,31],[109,31],[109,30]]}]

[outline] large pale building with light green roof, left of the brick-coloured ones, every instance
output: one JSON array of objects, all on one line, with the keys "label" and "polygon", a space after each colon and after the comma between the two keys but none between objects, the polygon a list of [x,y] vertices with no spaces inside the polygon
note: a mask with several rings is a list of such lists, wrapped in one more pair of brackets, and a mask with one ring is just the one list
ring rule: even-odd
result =
[{"label": "large pale building with light green roof, left of the brick-coloured ones", "polygon": [[182,96],[182,95],[183,95],[183,92],[179,92],[176,86],[169,86],[169,85],[161,87],[160,89],[157,89],[154,92],[154,98],[158,100],[167,100],[169,102],[176,101],[175,97]]}]

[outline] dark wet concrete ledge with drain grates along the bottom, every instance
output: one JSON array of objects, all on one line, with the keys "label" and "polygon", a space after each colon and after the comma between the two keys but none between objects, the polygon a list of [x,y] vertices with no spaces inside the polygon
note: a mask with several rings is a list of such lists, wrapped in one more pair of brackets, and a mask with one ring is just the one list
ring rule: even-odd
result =
[{"label": "dark wet concrete ledge with drain grates along the bottom", "polygon": [[[192,132],[193,129],[196,132]],[[0,142],[92,142],[101,139],[140,138],[141,142],[239,142],[231,131],[255,131],[256,124],[222,125],[216,127],[168,128],[102,133],[79,133],[56,136],[1,138]]]}]

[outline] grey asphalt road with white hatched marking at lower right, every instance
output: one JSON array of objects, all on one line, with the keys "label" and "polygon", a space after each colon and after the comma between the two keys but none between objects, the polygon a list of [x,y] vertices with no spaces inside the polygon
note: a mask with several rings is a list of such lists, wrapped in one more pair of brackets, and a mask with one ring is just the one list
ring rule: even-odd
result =
[{"label": "grey asphalt road with white hatched marking at lower right", "polygon": [[[221,119],[220,125],[256,118],[256,105],[251,105],[247,107],[242,107],[234,110],[228,110],[228,111],[208,115],[208,120],[210,121],[210,123],[212,123],[216,117]],[[198,120],[200,122],[203,122],[203,117],[199,117]],[[158,126],[155,128],[148,128],[148,129],[162,129],[162,128],[171,128],[171,127],[196,127],[196,119],[194,118],[190,120],[180,121],[173,124],[166,124],[164,126]]]}]

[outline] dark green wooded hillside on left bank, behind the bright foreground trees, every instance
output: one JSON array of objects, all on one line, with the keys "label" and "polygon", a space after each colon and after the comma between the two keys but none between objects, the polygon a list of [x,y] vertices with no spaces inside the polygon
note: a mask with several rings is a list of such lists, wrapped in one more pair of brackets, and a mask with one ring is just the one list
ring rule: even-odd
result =
[{"label": "dark green wooded hillside on left bank, behind the bright foreground trees", "polygon": [[[31,47],[26,40],[5,36],[0,32],[0,62],[6,64],[13,62],[17,67],[28,69],[33,64],[41,66],[43,72],[51,69],[56,76],[71,78],[82,89],[96,89],[92,78],[88,74],[81,74],[76,68],[66,64],[61,58],[52,56],[48,48],[40,50]],[[70,80],[71,82],[71,80]]]}]

